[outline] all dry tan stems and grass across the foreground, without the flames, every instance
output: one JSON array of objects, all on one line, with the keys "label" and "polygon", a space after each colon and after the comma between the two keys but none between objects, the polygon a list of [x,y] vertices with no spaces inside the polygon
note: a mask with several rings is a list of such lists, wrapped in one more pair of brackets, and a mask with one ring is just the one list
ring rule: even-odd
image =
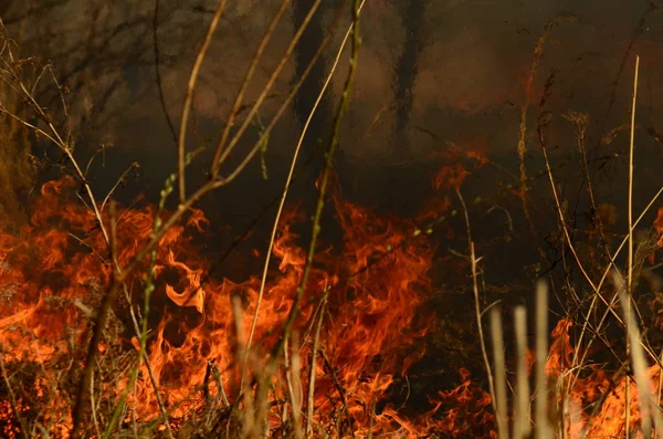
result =
[{"label": "all dry tan stems and grass across the foreground, without the flames", "polygon": [[[283,1],[281,12],[286,7],[287,1]],[[312,14],[320,4],[315,2],[312,8]],[[347,105],[348,95],[351,91],[352,77],[358,64],[359,50],[359,11],[364,2],[354,1],[351,25],[347,30],[346,40],[352,36],[352,50],[348,65],[347,80],[344,87],[343,98],[338,105],[336,118],[334,121],[334,130],[329,139],[327,150],[327,166],[320,179],[319,197],[316,205],[316,212],[313,221],[313,239],[307,252],[307,264],[305,266],[302,282],[297,290],[297,299],[285,321],[283,327],[278,328],[282,336],[271,353],[262,352],[260,347],[254,346],[254,331],[257,322],[260,303],[266,283],[267,266],[270,263],[266,258],[260,292],[257,295],[257,306],[252,316],[250,325],[243,321],[242,304],[235,296],[233,297],[233,324],[232,334],[234,360],[232,367],[220,369],[213,363],[208,364],[204,383],[198,388],[192,389],[191,395],[182,400],[201,401],[194,410],[188,410],[186,416],[175,416],[178,410],[186,410],[187,407],[168,406],[159,399],[159,383],[154,373],[154,366],[150,364],[147,355],[148,351],[148,315],[150,304],[150,293],[154,290],[155,279],[155,248],[168,230],[176,224],[185,215],[191,211],[191,208],[204,195],[235,180],[246,165],[254,158],[263,143],[266,140],[270,132],[275,126],[278,117],[283,114],[286,106],[291,103],[304,79],[301,79],[283,100],[282,106],[276,112],[274,118],[264,128],[261,138],[255,145],[241,158],[234,167],[224,169],[229,166],[228,157],[235,149],[241,136],[246,127],[259,113],[259,109],[265,98],[271,93],[274,81],[282,72],[294,45],[302,34],[303,28],[296,32],[292,44],[287,48],[273,75],[267,81],[264,90],[257,101],[250,106],[248,116],[240,124],[236,133],[231,133],[232,121],[238,117],[239,109],[244,105],[243,96],[248,84],[251,81],[253,71],[261,60],[262,52],[269,43],[271,35],[278,23],[280,14],[276,15],[270,28],[265,31],[264,38],[256,50],[251,66],[246,72],[245,80],[238,91],[235,102],[229,114],[230,121],[219,144],[214,149],[214,158],[209,164],[210,180],[200,187],[188,188],[185,174],[191,159],[190,151],[185,143],[188,117],[190,113],[191,98],[196,88],[196,79],[203,64],[206,51],[214,30],[223,13],[224,1],[219,3],[219,8],[210,23],[206,40],[200,48],[196,64],[192,67],[191,76],[188,83],[186,100],[183,103],[182,118],[180,121],[180,135],[177,145],[176,169],[168,178],[162,190],[162,197],[155,215],[151,237],[148,242],[137,252],[136,257],[127,263],[120,263],[118,260],[118,237],[115,229],[117,223],[115,205],[112,201],[112,192],[103,197],[94,194],[93,188],[87,184],[86,168],[78,165],[72,145],[72,134],[67,133],[66,127],[66,107],[63,105],[62,121],[55,121],[54,115],[44,109],[38,100],[34,86],[27,86],[25,69],[27,60],[21,60],[15,54],[15,46],[6,35],[2,51],[2,65],[0,66],[0,113],[7,117],[0,119],[0,128],[4,128],[6,135],[0,138],[0,189],[4,189],[2,198],[2,209],[7,212],[18,212],[18,196],[14,190],[29,187],[32,182],[33,169],[30,165],[27,153],[29,134],[36,134],[52,144],[69,158],[69,173],[73,175],[82,187],[82,200],[90,208],[90,213],[94,216],[97,227],[104,236],[106,243],[106,254],[103,258],[112,266],[112,276],[108,285],[104,289],[97,289],[94,294],[93,303],[76,303],[75,305],[83,310],[90,317],[92,330],[84,338],[86,346],[81,349],[72,341],[66,346],[66,355],[57,357],[53,364],[44,364],[30,360],[15,360],[9,364],[6,347],[0,346],[3,352],[0,356],[0,372],[2,381],[0,393],[7,395],[8,400],[0,404],[0,419],[2,433],[9,437],[105,437],[105,438],[138,438],[138,437],[168,437],[168,438],[262,438],[262,437],[283,437],[283,438],[314,438],[314,437],[354,437],[357,430],[355,420],[349,412],[346,400],[347,389],[337,377],[337,370],[330,365],[327,357],[325,341],[320,338],[322,327],[325,325],[327,313],[327,290],[319,299],[316,313],[308,321],[308,326],[303,333],[292,331],[293,322],[301,311],[299,304],[303,300],[303,292],[307,286],[308,271],[312,268],[313,255],[316,248],[316,239],[319,233],[319,222],[322,211],[325,205],[326,188],[329,181],[332,159],[338,143],[338,135],[341,119]],[[340,15],[339,15],[340,17]],[[311,15],[308,17],[311,18]],[[307,20],[304,25],[306,25]],[[328,36],[325,39],[322,50],[330,41],[332,30],[338,24],[334,21]],[[528,209],[525,199],[525,185],[527,181],[526,169],[524,165],[525,155],[525,135],[526,135],[526,113],[529,105],[532,93],[532,81],[536,73],[538,60],[541,55],[543,45],[550,31],[550,24],[546,28],[546,33],[539,40],[535,52],[532,72],[527,82],[527,102],[523,107],[520,124],[518,156],[520,158],[520,197],[525,207],[526,216]],[[345,41],[344,40],[344,45]],[[338,54],[343,46],[338,50]],[[317,55],[316,55],[317,59]],[[316,61],[314,59],[313,62]],[[338,62],[338,59],[337,59]],[[51,79],[57,87],[55,75],[52,74],[50,66],[40,66],[31,61],[30,65],[33,72],[36,72],[39,80],[43,77]],[[336,69],[333,69],[334,74]],[[606,252],[607,264],[604,266],[592,266],[591,262],[583,261],[580,252],[576,249],[572,239],[572,230],[569,226],[567,212],[564,209],[564,200],[558,190],[552,167],[550,166],[546,145],[546,123],[545,105],[546,100],[552,86],[552,79],[547,83],[544,96],[541,97],[539,108],[539,124],[537,134],[546,164],[547,176],[549,178],[550,190],[555,201],[556,212],[560,234],[564,237],[565,245],[570,251],[573,263],[580,270],[582,280],[590,291],[591,300],[586,306],[585,320],[576,322],[580,327],[580,335],[576,339],[576,349],[571,357],[571,364],[559,374],[556,383],[551,383],[550,374],[546,370],[549,362],[549,310],[548,310],[548,286],[539,282],[536,286],[536,310],[534,313],[535,325],[535,367],[534,380],[530,379],[527,364],[527,316],[524,307],[515,310],[515,358],[509,363],[506,352],[511,344],[504,339],[505,326],[497,305],[492,304],[482,309],[481,293],[483,285],[483,273],[481,271],[482,258],[475,253],[475,247],[472,239],[471,218],[467,206],[465,205],[461,191],[456,192],[460,203],[464,211],[465,226],[467,231],[469,265],[472,274],[472,289],[474,293],[474,311],[480,334],[480,342],[483,352],[483,360],[487,373],[490,391],[492,395],[493,410],[496,416],[495,431],[499,439],[513,437],[515,439],[528,438],[534,435],[536,438],[567,438],[575,435],[571,430],[575,425],[580,425],[580,414],[578,407],[573,406],[577,391],[576,384],[583,379],[583,373],[590,367],[589,352],[592,344],[603,336],[607,322],[610,320],[614,324],[621,325],[624,330],[623,341],[625,351],[622,360],[622,367],[613,377],[614,383],[620,379],[625,383],[624,404],[624,430],[628,432],[633,427],[645,432],[645,437],[662,437],[663,420],[660,414],[660,394],[661,384],[652,391],[646,383],[652,380],[650,365],[660,366],[660,355],[655,355],[654,348],[649,344],[643,331],[642,313],[636,309],[638,302],[632,299],[638,284],[639,275],[643,261],[650,252],[638,253],[638,247],[634,240],[634,230],[643,219],[644,215],[651,209],[659,196],[663,194],[663,188],[652,198],[651,202],[644,208],[641,215],[635,218],[633,215],[633,151],[634,151],[634,129],[635,129],[635,96],[638,88],[638,67],[635,70],[635,82],[633,92],[633,108],[631,121],[631,161],[629,173],[629,230],[621,245],[617,250],[610,251],[609,243],[601,234],[602,247]],[[328,82],[327,82],[328,83]],[[327,84],[322,90],[320,95],[325,93]],[[19,103],[24,103],[21,107]],[[63,100],[64,104],[64,100]],[[315,109],[314,109],[315,112]],[[30,116],[28,116],[28,113]],[[312,114],[313,116],[313,114]],[[568,113],[567,119],[577,127],[579,139],[579,149],[583,157],[585,177],[588,180],[588,194],[591,198],[591,205],[598,206],[594,195],[591,190],[589,168],[583,149],[585,128],[587,121],[578,114]],[[302,134],[302,138],[304,134]],[[276,224],[278,223],[281,212],[288,192],[292,173],[297,161],[299,144],[295,156],[292,159],[291,173],[284,185],[283,196],[278,213],[274,220],[274,229],[270,249],[266,254],[272,253],[274,237],[276,234]],[[165,202],[171,192],[176,194],[178,208],[170,213],[165,211]],[[12,213],[13,215],[13,213]],[[527,218],[529,221],[529,217]],[[438,220],[436,220],[438,221]],[[422,234],[432,233],[432,227],[417,229],[412,238]],[[599,222],[599,229],[601,229]],[[628,262],[625,276],[621,275],[617,260],[624,248],[628,248]],[[646,245],[645,245],[646,247]],[[651,249],[652,247],[648,247]],[[149,261],[146,263],[145,261]],[[596,262],[596,261],[592,261]],[[131,274],[143,273],[145,285],[141,291],[144,300],[143,313],[135,312],[134,300],[131,299],[131,286],[129,280]],[[593,273],[600,273],[594,276]],[[610,275],[612,273],[612,276]],[[612,278],[613,285],[606,288],[607,279]],[[570,279],[570,275],[569,275]],[[611,293],[611,294],[610,294]],[[117,303],[122,302],[122,309],[128,311],[131,316],[129,327],[114,314]],[[600,318],[594,318],[599,313],[600,306],[603,306]],[[484,334],[483,318],[490,310],[491,331],[490,338],[493,342],[492,349],[487,346]],[[598,323],[597,323],[598,321]],[[250,327],[246,333],[246,327]],[[120,334],[133,333],[137,339],[136,352],[127,353],[119,344]],[[104,346],[104,355],[99,355],[98,346]],[[80,365],[82,351],[85,353],[85,362]],[[492,352],[492,362],[488,357]],[[306,357],[305,357],[306,356]],[[269,359],[265,359],[269,358]],[[305,364],[314,367],[304,367]],[[515,365],[515,374],[509,375],[508,366]],[[316,391],[315,365],[324,365],[325,373],[330,377],[334,384],[335,398],[339,404],[335,405],[337,410],[330,414],[320,414],[315,407],[313,396]],[[11,367],[10,367],[11,366]],[[145,373],[147,376],[140,376]],[[238,388],[227,389],[224,387],[223,376],[239,377]],[[508,378],[513,377],[513,383]],[[659,374],[659,380],[661,374]],[[154,419],[140,419],[136,410],[136,381],[138,379],[149,380],[157,395],[159,415]],[[631,419],[631,379],[638,387],[638,406],[640,408],[640,420],[638,422]],[[117,398],[116,387],[120,383],[126,384],[125,390]],[[534,389],[530,389],[534,384]],[[555,385],[552,385],[555,384]],[[582,420],[583,426],[590,426],[600,409],[601,403],[606,400],[617,385],[604,390],[603,397],[597,403],[597,406],[590,411],[590,415]],[[530,391],[532,390],[532,391]],[[512,409],[509,410],[509,403]],[[365,408],[370,411],[370,420],[373,421],[375,408]],[[587,410],[586,410],[587,411]],[[274,414],[278,414],[277,422],[274,421]],[[322,419],[322,420],[320,420]],[[580,432],[580,437],[587,433]],[[650,435],[651,432],[651,435]],[[375,437],[369,428],[367,437]],[[408,436],[404,431],[394,432],[392,436]]]}]

